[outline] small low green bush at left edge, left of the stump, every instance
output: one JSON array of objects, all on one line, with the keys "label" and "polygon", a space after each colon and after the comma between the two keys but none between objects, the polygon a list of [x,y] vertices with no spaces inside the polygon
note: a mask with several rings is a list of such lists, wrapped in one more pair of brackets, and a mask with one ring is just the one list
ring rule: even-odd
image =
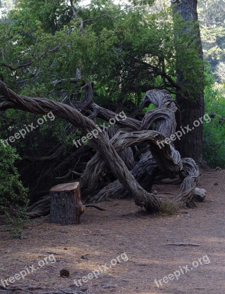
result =
[{"label": "small low green bush at left edge, left of the stump", "polygon": [[20,234],[20,225],[29,202],[27,190],[15,167],[18,159],[20,157],[14,148],[0,144],[0,212],[6,215],[16,235]]}]

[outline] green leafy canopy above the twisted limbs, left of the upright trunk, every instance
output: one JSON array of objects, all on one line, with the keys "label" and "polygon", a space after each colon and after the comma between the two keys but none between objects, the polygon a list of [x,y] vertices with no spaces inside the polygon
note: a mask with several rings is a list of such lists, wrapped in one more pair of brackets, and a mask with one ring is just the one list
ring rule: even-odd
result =
[{"label": "green leafy canopy above the twisted limbs, left of the upright trunk", "polygon": [[[61,6],[57,5],[59,2],[54,1],[54,7],[60,9],[59,15],[65,15],[63,9],[70,7],[67,1],[61,1]],[[8,19],[0,23],[0,47],[7,46],[4,64],[17,67],[32,62],[16,74],[1,67],[9,87],[14,89],[19,83],[23,95],[57,99],[62,85],[54,86],[52,82],[75,77],[79,68],[83,79],[95,82],[100,99],[116,102],[130,93],[139,101],[142,87],[154,87],[156,79],[163,85],[165,79],[160,72],[164,68],[175,80],[169,11],[148,15],[142,7],[122,9],[112,1],[92,1],[90,9],[79,10],[76,20],[53,25],[49,23],[48,4],[52,2],[33,0],[28,5],[21,0]],[[108,13],[109,16],[99,17]],[[58,49],[51,51],[58,45]],[[74,94],[72,83],[65,82],[63,89],[67,96]],[[100,89],[107,89],[104,98]]]}]

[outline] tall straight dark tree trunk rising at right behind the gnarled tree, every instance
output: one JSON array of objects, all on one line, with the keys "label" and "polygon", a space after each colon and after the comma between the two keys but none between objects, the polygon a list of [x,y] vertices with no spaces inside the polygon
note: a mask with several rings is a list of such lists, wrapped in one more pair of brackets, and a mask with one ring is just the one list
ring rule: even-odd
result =
[{"label": "tall straight dark tree trunk rising at right behind the gnarled tree", "polygon": [[[204,113],[203,86],[203,48],[198,24],[197,0],[171,0],[174,17],[175,47],[177,54],[177,82],[185,88],[185,93],[177,95],[180,105],[182,125],[192,129],[180,138],[177,148],[181,157],[192,157],[199,164],[203,164],[203,123],[196,126]],[[180,26],[180,19],[184,25]],[[179,19],[179,20],[178,20]],[[180,44],[184,35],[193,36],[188,46]],[[188,38],[189,39],[189,38]],[[191,48],[191,50],[190,50]],[[193,54],[193,62],[197,66],[189,68],[185,65],[186,58]],[[195,62],[194,59],[199,59]],[[193,78],[194,77],[194,78]],[[194,91],[193,91],[194,90]]]}]

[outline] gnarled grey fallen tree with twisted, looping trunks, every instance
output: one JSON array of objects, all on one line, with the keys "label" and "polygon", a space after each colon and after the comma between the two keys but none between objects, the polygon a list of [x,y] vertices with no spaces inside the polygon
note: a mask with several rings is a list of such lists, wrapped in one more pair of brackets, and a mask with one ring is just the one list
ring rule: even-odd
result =
[{"label": "gnarled grey fallen tree with twisted, looping trunks", "polygon": [[[155,213],[160,208],[160,202],[164,200],[151,193],[153,183],[163,178],[180,177],[182,184],[174,200],[188,206],[194,205],[193,199],[200,174],[198,166],[191,158],[181,159],[172,143],[164,144],[163,147],[159,144],[176,132],[176,112],[180,126],[179,108],[165,90],[148,91],[142,108],[150,103],[158,108],[148,111],[142,121],[128,117],[115,120],[122,128],[108,128],[107,132],[98,131],[96,136],[92,136],[90,143],[96,154],[88,162],[80,178],[82,198],[99,202],[108,197],[130,195],[135,199],[136,205]],[[0,111],[9,108],[34,114],[52,112],[72,123],[84,135],[97,129],[94,123],[96,118],[109,122],[116,117],[116,113],[98,106],[93,101],[91,83],[86,85],[86,94],[82,101],[69,102],[68,105],[49,99],[17,95],[0,81]],[[89,117],[83,113],[88,113]],[[153,124],[156,126],[155,130],[152,129]],[[100,177],[106,169],[112,172],[116,180],[99,191]],[[49,197],[46,196],[32,205],[27,214],[30,217],[46,214],[48,203]]]}]

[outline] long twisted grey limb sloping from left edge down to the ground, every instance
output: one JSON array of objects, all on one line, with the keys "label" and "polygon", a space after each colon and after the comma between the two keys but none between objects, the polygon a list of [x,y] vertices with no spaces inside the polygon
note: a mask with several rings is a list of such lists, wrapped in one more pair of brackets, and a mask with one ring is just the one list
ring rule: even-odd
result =
[{"label": "long twisted grey limb sloping from left edge down to the ground", "polygon": [[[34,114],[47,114],[52,111],[56,116],[66,119],[74,124],[84,134],[90,133],[96,129],[96,125],[87,117],[84,117],[76,109],[52,100],[42,98],[28,98],[19,96],[0,81],[0,95],[3,96],[0,100],[0,110],[7,108],[22,109]],[[3,100],[3,101],[2,101]],[[161,136],[161,135],[160,135]],[[135,203],[140,207],[145,207],[147,211],[153,213],[159,208],[158,199],[147,193],[135,180],[134,176],[129,172],[128,168],[117,154],[111,143],[105,138],[102,133],[92,138],[91,145],[94,147],[105,162],[110,167],[112,173],[123,186],[131,193],[135,199]]]}]

